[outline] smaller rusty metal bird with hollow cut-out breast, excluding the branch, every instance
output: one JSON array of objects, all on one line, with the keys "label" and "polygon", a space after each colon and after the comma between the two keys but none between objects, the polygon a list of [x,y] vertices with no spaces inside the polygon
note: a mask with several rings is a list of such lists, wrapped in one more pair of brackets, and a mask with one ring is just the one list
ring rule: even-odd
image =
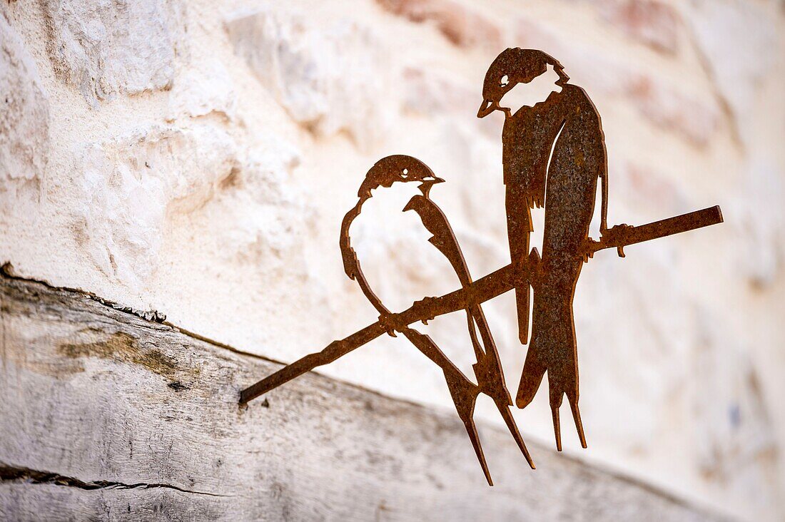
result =
[{"label": "smaller rusty metal bird with hollow cut-out breast, excluding the branch", "polygon": [[[429,243],[436,246],[436,249],[447,258],[462,287],[468,287],[472,283],[472,279],[460,246],[458,246],[458,241],[455,239],[447,217],[436,206],[436,203],[433,203],[429,195],[433,185],[443,181],[440,177],[436,177],[423,162],[411,156],[392,155],[380,159],[368,171],[365,180],[360,185],[360,191],[358,192],[360,199],[352,210],[349,210],[345,215],[341,224],[341,255],[346,275],[360,284],[363,294],[365,294],[368,301],[371,301],[371,304],[374,305],[374,308],[380,314],[379,319],[388,327],[388,333],[395,336],[395,331],[399,331],[444,372],[447,388],[450,391],[453,403],[455,403],[458,417],[461,418],[461,421],[466,426],[466,433],[469,434],[469,439],[472,442],[488,484],[493,485],[491,473],[487,468],[487,462],[485,461],[480,438],[473,420],[476,398],[480,393],[491,397],[527,462],[532,469],[535,468],[535,465],[509,410],[513,401],[507,390],[502,365],[498,358],[498,351],[482,308],[480,305],[472,305],[466,308],[469,338],[476,356],[473,370],[477,384],[474,384],[444,355],[444,352],[441,351],[432,338],[405,324],[394,323],[391,310],[382,303],[378,295],[371,289],[367,278],[363,275],[362,268],[360,268],[360,260],[352,248],[349,235],[352,222],[360,215],[363,204],[373,197],[372,191],[377,188],[390,188],[395,183],[418,183],[418,192],[409,199],[406,206],[403,207],[403,212],[414,210],[418,214],[427,232],[433,234],[429,239]],[[480,332],[479,338],[477,337],[478,330]]]}]

